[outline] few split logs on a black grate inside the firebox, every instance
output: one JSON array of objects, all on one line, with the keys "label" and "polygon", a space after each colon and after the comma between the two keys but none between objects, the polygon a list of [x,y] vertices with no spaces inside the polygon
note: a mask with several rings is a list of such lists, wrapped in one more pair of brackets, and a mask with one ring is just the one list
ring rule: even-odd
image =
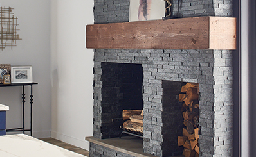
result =
[{"label": "few split logs on a black grate inside the firebox", "polygon": [[123,122],[123,128],[143,133],[143,110],[123,110],[123,120],[127,120]]}]

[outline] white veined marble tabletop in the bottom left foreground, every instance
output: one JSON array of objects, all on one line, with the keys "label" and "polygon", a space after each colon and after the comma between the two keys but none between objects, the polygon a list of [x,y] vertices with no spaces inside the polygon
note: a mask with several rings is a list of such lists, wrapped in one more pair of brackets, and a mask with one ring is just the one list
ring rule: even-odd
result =
[{"label": "white veined marble tabletop in the bottom left foreground", "polygon": [[82,157],[83,155],[24,134],[0,136],[0,156]]}]

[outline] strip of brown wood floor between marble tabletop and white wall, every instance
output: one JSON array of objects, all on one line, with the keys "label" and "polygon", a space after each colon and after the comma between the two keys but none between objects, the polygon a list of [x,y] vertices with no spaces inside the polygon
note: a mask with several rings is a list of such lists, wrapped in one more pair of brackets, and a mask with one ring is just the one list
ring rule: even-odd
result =
[{"label": "strip of brown wood floor between marble tabletop and white wall", "polygon": [[40,140],[43,140],[44,142],[48,142],[53,145],[57,145],[59,147],[62,147],[64,149],[68,149],[69,151],[73,151],[78,154],[82,154],[84,156],[89,156],[89,151],[82,149],[80,147],[75,147],[74,145],[67,144],[65,142],[62,142],[60,140],[56,140],[54,138],[40,138]]}]

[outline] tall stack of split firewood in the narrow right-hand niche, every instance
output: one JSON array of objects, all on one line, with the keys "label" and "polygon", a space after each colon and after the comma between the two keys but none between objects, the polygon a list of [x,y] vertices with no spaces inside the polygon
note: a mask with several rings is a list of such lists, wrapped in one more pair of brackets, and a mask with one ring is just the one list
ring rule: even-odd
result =
[{"label": "tall stack of split firewood in the narrow right-hand niche", "polygon": [[184,118],[183,136],[178,136],[178,145],[184,147],[185,157],[199,156],[199,84],[187,83],[181,87],[179,102],[183,102],[181,112]]}]

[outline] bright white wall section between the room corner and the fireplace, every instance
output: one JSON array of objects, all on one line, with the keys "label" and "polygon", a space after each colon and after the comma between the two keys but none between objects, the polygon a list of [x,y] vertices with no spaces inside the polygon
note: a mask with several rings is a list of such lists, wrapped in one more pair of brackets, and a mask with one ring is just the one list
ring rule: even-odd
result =
[{"label": "bright white wall section between the room corner and the fireplace", "polygon": [[51,136],[88,150],[93,50],[85,48],[86,24],[93,24],[93,0],[51,0]]}]

